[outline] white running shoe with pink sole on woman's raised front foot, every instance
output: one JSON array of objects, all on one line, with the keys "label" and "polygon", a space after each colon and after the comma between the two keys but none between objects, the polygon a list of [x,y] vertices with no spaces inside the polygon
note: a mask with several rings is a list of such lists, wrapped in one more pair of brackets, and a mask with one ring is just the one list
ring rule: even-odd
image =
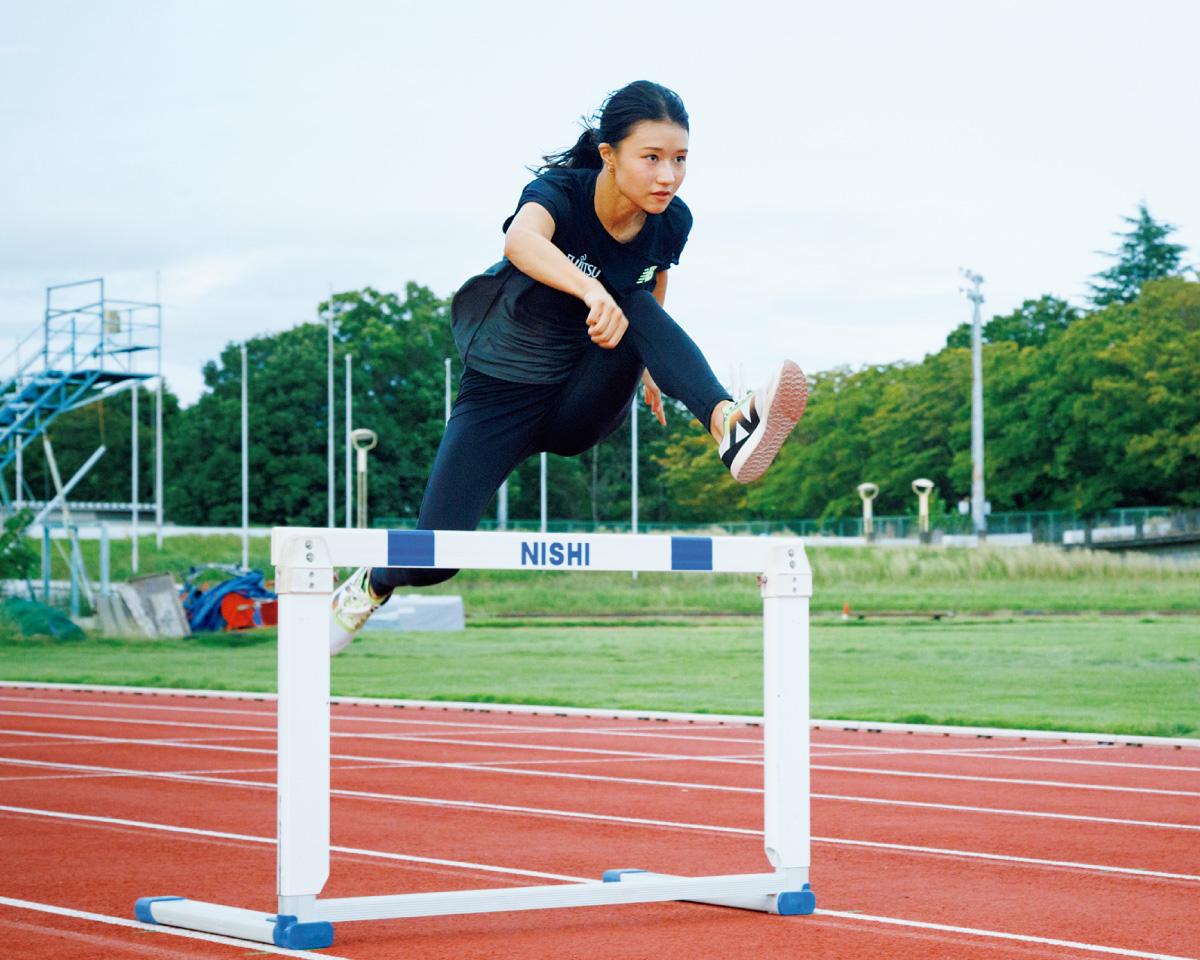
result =
[{"label": "white running shoe with pink sole on woman's raised front foot", "polygon": [[734,480],[749,484],[767,472],[808,400],[804,372],[785,360],[763,386],[725,412],[725,436],[716,451]]}]

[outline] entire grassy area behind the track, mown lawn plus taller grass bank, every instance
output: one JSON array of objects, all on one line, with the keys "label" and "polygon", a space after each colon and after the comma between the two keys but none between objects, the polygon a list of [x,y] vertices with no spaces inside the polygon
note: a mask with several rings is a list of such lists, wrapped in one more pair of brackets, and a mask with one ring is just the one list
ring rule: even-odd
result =
[{"label": "entire grassy area behind the track, mown lawn plus taller grass bank", "polygon": [[[268,569],[268,541],[251,546]],[[97,547],[84,544],[90,569]],[[179,577],[238,559],[240,541],[168,538],[160,553],[146,538],[140,552],[142,572]],[[128,556],[113,544],[114,578]],[[1051,547],[809,557],[816,716],[1200,734],[1200,562]],[[754,577],[470,571],[436,590],[463,595],[469,629],[367,634],[334,661],[335,692],[761,712]],[[0,677],[274,690],[275,635],[55,644],[0,624]]]}]

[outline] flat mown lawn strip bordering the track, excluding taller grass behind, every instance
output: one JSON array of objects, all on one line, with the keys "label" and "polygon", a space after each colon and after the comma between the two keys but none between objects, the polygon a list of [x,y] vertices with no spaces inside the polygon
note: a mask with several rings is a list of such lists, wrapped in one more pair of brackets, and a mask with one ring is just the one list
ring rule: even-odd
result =
[{"label": "flat mown lawn strip bordering the track, excluding taller grass behind", "polygon": [[[485,622],[368,632],[334,691],[757,714],[752,618]],[[271,631],[181,641],[0,643],[8,679],[274,690]],[[818,620],[815,716],[1157,736],[1200,732],[1200,618]]]}]

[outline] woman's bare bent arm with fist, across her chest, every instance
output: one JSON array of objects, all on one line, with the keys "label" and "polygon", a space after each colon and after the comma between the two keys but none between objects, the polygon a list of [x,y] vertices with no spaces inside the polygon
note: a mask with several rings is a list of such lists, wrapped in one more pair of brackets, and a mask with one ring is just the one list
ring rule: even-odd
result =
[{"label": "woman's bare bent arm with fist, across her chest", "polygon": [[604,284],[576,269],[554,246],[553,235],[550,211],[538,203],[522,204],[504,235],[504,256],[522,274],[587,304],[588,336],[596,346],[612,349],[620,343],[629,320]]}]

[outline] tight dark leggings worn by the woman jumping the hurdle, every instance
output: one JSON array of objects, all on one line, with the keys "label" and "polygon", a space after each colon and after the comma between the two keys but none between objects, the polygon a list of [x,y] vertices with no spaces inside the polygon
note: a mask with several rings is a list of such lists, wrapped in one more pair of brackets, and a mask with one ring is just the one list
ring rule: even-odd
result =
[{"label": "tight dark leggings worn by the woman jumping the hurdle", "polygon": [[[500,484],[526,457],[550,452],[578,456],[625,419],[642,368],[670,397],[683,401],[708,428],[713,409],[728,391],[659,301],[647,292],[618,301],[629,320],[611,350],[589,343],[562,383],[512,383],[463,371],[450,420],[425,487],[418,529],[473,530]],[[457,570],[377,566],[371,588],[427,587]]]}]

